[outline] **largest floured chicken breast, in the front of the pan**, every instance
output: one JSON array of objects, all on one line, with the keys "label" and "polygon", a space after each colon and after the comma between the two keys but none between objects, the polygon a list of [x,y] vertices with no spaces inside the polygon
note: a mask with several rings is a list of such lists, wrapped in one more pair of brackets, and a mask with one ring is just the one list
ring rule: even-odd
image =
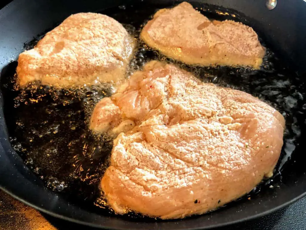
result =
[{"label": "largest floured chicken breast, in the front of the pan", "polygon": [[205,213],[272,176],[284,125],[250,94],[152,61],[94,109],[92,130],[121,132],[101,188],[118,213]]}]

